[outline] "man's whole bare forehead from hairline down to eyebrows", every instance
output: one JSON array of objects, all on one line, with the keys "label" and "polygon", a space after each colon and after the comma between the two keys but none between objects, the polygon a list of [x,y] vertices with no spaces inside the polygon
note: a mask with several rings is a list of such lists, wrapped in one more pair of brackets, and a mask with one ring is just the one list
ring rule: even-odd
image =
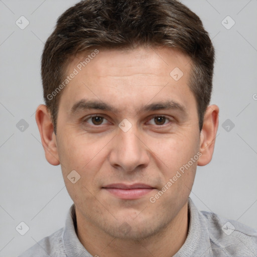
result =
[{"label": "man's whole bare forehead from hairline down to eyebrows", "polygon": [[62,92],[60,105],[70,109],[83,98],[116,104],[117,108],[169,98],[184,105],[192,98],[192,104],[191,65],[187,55],[168,47],[92,49],[69,62],[66,75],[76,75]]}]

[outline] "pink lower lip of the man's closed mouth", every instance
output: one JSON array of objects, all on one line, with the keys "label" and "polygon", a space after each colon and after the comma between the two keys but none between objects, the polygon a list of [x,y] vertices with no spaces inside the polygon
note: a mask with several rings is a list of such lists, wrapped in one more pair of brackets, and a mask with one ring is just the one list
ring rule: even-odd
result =
[{"label": "pink lower lip of the man's closed mouth", "polygon": [[119,188],[104,188],[112,195],[120,199],[138,199],[150,193],[154,188],[134,188],[134,189],[119,189]]}]

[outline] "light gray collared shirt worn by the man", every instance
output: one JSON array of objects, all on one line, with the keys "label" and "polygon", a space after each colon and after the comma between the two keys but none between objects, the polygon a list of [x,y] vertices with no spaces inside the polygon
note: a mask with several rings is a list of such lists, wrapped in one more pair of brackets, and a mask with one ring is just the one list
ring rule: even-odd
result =
[{"label": "light gray collared shirt worn by the man", "polygon": [[[188,209],[188,235],[174,257],[257,256],[257,230],[215,213],[199,211],[190,198]],[[19,257],[92,257],[77,237],[76,224],[73,204],[64,228],[43,238]]]}]

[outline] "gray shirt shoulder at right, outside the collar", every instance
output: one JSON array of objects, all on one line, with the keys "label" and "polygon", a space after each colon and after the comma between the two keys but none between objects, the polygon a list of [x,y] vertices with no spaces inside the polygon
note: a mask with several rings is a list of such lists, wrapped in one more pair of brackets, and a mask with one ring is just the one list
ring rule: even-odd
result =
[{"label": "gray shirt shoulder at right, outside the collar", "polygon": [[215,213],[201,211],[206,220],[213,254],[257,256],[257,230]]}]

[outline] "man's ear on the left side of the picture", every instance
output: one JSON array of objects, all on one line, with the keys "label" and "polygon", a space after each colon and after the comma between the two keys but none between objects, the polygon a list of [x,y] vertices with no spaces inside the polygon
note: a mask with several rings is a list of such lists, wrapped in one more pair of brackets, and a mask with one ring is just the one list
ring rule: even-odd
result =
[{"label": "man's ear on the left side of the picture", "polygon": [[38,106],[36,111],[36,121],[47,161],[52,165],[59,165],[60,162],[56,137],[54,134],[54,126],[46,105],[41,104]]}]

